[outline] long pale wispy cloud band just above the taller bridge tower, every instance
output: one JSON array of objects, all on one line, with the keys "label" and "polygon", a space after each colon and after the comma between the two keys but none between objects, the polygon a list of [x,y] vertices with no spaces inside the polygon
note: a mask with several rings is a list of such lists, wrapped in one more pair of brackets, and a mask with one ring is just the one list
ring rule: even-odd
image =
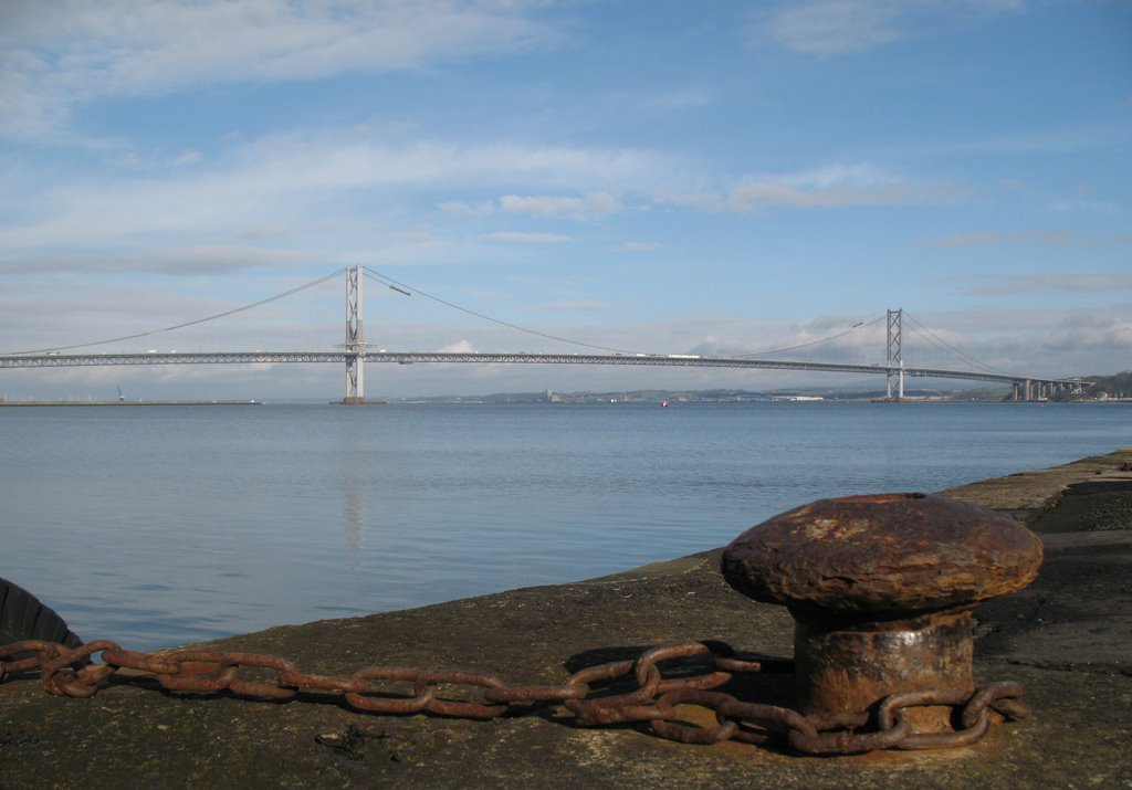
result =
[{"label": "long pale wispy cloud band just above the taller bridge tower", "polygon": [[[34,218],[0,226],[0,247],[59,249],[121,244],[188,231],[215,237],[246,229],[298,227],[337,211],[334,203],[327,203],[327,195],[348,201],[358,190],[369,190],[379,205],[400,205],[406,198],[404,188],[458,190],[533,181],[641,183],[660,170],[658,156],[632,149],[440,140],[387,144],[334,135],[273,135],[233,149],[208,169],[54,187],[29,180],[22,211]],[[397,201],[389,198],[391,187],[402,188]],[[577,212],[598,212],[612,203],[600,191],[580,200]],[[538,199],[526,204],[529,213],[537,204]],[[463,203],[441,204],[441,208],[465,215],[482,211]]]}]

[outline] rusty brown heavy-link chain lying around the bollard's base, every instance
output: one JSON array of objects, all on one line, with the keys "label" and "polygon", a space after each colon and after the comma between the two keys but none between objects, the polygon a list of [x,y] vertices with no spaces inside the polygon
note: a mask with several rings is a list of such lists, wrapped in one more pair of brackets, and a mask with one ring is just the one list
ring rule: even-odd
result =
[{"label": "rusty brown heavy-link chain lying around the bollard's base", "polygon": [[[17,655],[32,653],[18,660]],[[102,654],[102,663],[92,656]],[[711,655],[713,669],[706,673],[664,678],[658,664],[694,656]],[[663,644],[642,653],[636,660],[614,661],[575,672],[561,686],[509,686],[494,675],[469,671],[428,671],[404,667],[368,667],[350,677],[306,675],[285,659],[246,652],[177,650],[142,653],[123,650],[101,639],[74,650],[60,643],[28,639],[0,646],[0,682],[9,675],[38,670],[43,688],[55,695],[91,697],[119,670],[120,677],[152,678],[170,692],[230,694],[258,699],[291,699],[300,689],[341,695],[354,710],[367,713],[421,713],[491,719],[516,705],[564,703],[583,727],[648,722],[662,738],[685,744],[718,744],[737,740],[794,748],[811,755],[838,755],[876,749],[936,749],[967,746],[979,740],[992,721],[1023,719],[1029,709],[1022,704],[1022,688],[1017,682],[995,682],[974,692],[966,689],[925,689],[893,694],[882,699],[874,712],[842,714],[801,713],[788,707],[743,702],[717,689],[740,673],[788,671],[787,659],[740,660],[724,643],[680,642]],[[274,681],[241,679],[241,669],[272,671]],[[676,672],[670,672],[675,676]],[[411,685],[412,694],[381,689],[375,682]],[[615,687],[635,684],[628,692],[610,693]],[[454,686],[483,689],[482,702],[449,698]],[[600,686],[594,688],[594,686]],[[441,687],[446,696],[441,696]],[[714,714],[714,727],[702,727],[689,706]],[[947,706],[955,729],[942,732],[916,732],[904,711],[919,706]],[[994,714],[998,714],[997,718]]]}]

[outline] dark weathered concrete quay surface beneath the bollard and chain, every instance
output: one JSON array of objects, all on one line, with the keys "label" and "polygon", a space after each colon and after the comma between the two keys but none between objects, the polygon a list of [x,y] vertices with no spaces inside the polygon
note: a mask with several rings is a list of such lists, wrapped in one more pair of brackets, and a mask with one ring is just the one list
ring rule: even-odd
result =
[{"label": "dark weathered concrete quay surface beneath the bollard and chain", "polygon": [[[72,699],[31,676],[0,684],[0,788],[1132,788],[1132,448],[943,493],[1045,541],[1038,579],[975,612],[977,681],[1021,682],[1034,713],[972,746],[811,757],[678,744],[648,724],[578,727],[558,703],[481,721],[361,713],[316,693],[285,703],[175,694],[118,676]],[[563,684],[684,639],[789,656],[789,613],[732,591],[719,556],[208,647],[278,655],[307,673],[462,669],[508,685]],[[765,696],[752,702],[790,704],[789,676],[760,678]]]}]

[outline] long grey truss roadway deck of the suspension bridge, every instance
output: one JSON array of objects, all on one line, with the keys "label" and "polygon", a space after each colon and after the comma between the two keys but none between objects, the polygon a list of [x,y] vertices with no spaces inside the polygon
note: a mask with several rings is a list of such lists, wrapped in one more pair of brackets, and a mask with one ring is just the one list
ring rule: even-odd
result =
[{"label": "long grey truss roadway deck of the suspension bridge", "polygon": [[[363,362],[415,363],[473,363],[473,364],[648,364],[686,368],[755,368],[764,370],[811,370],[835,373],[874,373],[917,378],[964,379],[1010,384],[1014,387],[1057,389],[1079,386],[1077,379],[1040,379],[1007,373],[985,373],[942,368],[895,368],[885,364],[847,364],[834,362],[797,362],[786,360],[747,359],[737,357],[700,357],[693,354],[528,354],[479,352],[417,352],[417,351],[217,351],[217,352],[147,352],[102,354],[8,354],[0,355],[0,368],[63,368],[108,364],[255,364],[255,363],[317,363],[344,364],[360,358]],[[1026,396],[1023,396],[1026,397]],[[1027,398],[1028,400],[1028,398]]]}]

